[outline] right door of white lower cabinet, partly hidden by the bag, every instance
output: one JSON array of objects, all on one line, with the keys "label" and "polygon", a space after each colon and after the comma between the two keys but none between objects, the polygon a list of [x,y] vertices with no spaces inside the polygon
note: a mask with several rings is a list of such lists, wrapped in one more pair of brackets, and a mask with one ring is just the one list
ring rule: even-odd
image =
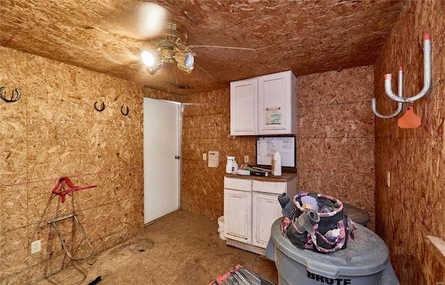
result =
[{"label": "right door of white lower cabinet, partly hidden by the bag", "polygon": [[277,194],[252,193],[252,245],[266,248],[270,238],[270,227],[282,216]]}]

